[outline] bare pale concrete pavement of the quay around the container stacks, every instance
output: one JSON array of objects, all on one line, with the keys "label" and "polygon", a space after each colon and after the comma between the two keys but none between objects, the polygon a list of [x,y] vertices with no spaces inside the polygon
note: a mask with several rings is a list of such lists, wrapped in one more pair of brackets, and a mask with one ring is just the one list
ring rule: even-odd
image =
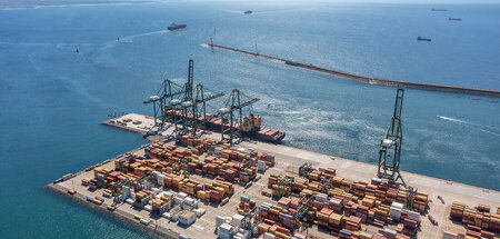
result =
[{"label": "bare pale concrete pavement of the quay around the container stacks", "polygon": [[[141,120],[141,123],[134,125],[133,122],[124,122],[126,118],[133,118],[134,120]],[[111,122],[112,121],[112,122]],[[116,122],[123,122],[118,125]],[[147,127],[153,123],[151,117],[141,116],[137,113],[122,116],[112,120],[107,120],[103,125],[117,127],[119,129],[133,131],[137,133],[147,132]],[[167,131],[171,131],[171,127]],[[169,132],[166,132],[169,133]],[[210,132],[203,136],[210,139],[219,139],[220,136],[217,132]],[[166,142],[167,145],[173,145],[173,141]],[[107,210],[107,206],[113,205],[112,199],[104,198],[102,205],[96,205],[89,202],[86,198],[101,197],[103,189],[89,190],[87,187],[81,186],[81,180],[86,178],[93,178],[92,170],[82,170],[72,176],[72,178],[50,183],[46,188],[54,191],[59,195],[63,195],[87,207],[92,208],[103,215],[114,218],[123,223],[134,226],[136,228],[149,232],[149,235],[159,238],[218,238],[214,233],[216,230],[216,216],[230,217],[236,213],[234,208],[239,203],[240,196],[244,195],[256,200],[258,205],[263,202],[276,203],[269,197],[262,196],[262,190],[266,190],[267,182],[271,175],[290,175],[299,177],[299,166],[303,162],[310,162],[313,167],[333,167],[337,169],[337,175],[346,177],[350,180],[370,181],[377,173],[377,166],[359,162],[354,160],[343,159],[339,157],[327,156],[298,148],[287,147],[282,145],[272,145],[266,142],[241,142],[239,147],[256,150],[276,156],[276,166],[269,168],[266,172],[260,175],[260,179],[253,183],[250,188],[244,188],[239,185],[234,185],[234,195],[226,205],[201,203],[200,208],[206,209],[207,212],[201,218],[191,225],[190,227],[181,227],[176,222],[169,221],[166,218],[154,216],[143,209],[132,207],[128,203],[117,205],[114,211]],[[138,156],[144,155],[144,146],[138,149],[132,149],[129,153]],[[123,155],[122,155],[123,156]],[[114,161],[122,156],[111,158],[103,162],[96,165],[96,167],[102,167],[108,169],[114,169]],[[204,156],[203,156],[204,157]],[[447,181],[442,179],[431,178],[407,171],[401,172],[408,185],[417,187],[419,191],[429,193],[429,210],[426,215],[421,216],[420,231],[418,236],[412,238],[442,238],[443,231],[466,232],[466,228],[462,223],[451,221],[449,213],[453,201],[461,201],[468,205],[487,205],[493,208],[498,207],[500,201],[500,192],[496,190],[489,190],[484,188],[468,186],[459,182]],[[210,183],[212,180],[206,176],[191,175],[191,179],[196,179],[203,183]],[[74,189],[74,195],[69,195],[68,190]],[[443,199],[441,202],[438,196]],[[427,218],[427,215],[432,217],[439,222],[432,225]],[[143,217],[149,220],[150,223],[144,226],[140,223],[136,216]],[[378,227],[363,223],[368,232],[376,233],[379,231]],[[309,236],[316,236],[319,238],[334,238],[323,229],[318,227],[311,227],[308,231]],[[498,233],[496,235],[498,236]]]}]

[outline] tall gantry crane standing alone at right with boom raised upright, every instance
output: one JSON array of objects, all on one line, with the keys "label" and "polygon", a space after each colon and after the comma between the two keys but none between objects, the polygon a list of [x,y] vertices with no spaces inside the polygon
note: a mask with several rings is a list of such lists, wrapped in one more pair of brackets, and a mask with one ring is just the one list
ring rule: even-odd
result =
[{"label": "tall gantry crane standing alone at right with boom raised upright", "polygon": [[[401,175],[399,172],[399,163],[402,143],[401,110],[403,97],[404,90],[398,89],[396,94],[393,116],[389,123],[389,129],[387,130],[386,136],[380,142],[379,167],[377,176],[381,179],[388,179],[391,183],[401,178]],[[388,155],[388,151],[390,151],[392,148],[394,151],[391,157],[390,155]],[[390,158],[392,158],[392,160]],[[404,183],[404,181],[402,182]]]}]

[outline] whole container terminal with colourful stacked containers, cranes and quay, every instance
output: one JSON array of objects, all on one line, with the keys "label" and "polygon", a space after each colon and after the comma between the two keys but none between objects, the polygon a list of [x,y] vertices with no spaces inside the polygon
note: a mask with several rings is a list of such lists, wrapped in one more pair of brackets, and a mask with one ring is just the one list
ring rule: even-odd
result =
[{"label": "whole container terminal with colourful stacked containers, cranes and quay", "polygon": [[207,113],[224,94],[193,86],[192,69],[144,101],[153,117],[103,122],[149,145],[46,188],[160,238],[499,237],[499,191],[399,170],[402,89],[373,166],[266,140],[264,119],[242,114],[259,99],[240,90]]}]

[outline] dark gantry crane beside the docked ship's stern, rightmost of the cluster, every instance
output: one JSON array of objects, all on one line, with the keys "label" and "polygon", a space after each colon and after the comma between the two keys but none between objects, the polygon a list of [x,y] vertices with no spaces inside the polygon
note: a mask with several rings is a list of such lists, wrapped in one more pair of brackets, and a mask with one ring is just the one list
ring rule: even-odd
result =
[{"label": "dark gantry crane beside the docked ship's stern, rightmost of the cluster", "polygon": [[[257,101],[259,98],[251,98],[242,93],[240,90],[234,89],[231,91],[224,107],[220,108],[219,111],[213,114],[212,118],[221,118],[221,137],[224,140],[224,135],[229,132],[229,143],[233,143],[233,139],[239,137],[241,140],[243,138],[243,107],[250,106]],[[234,112],[236,111],[236,112]],[[229,114],[229,126],[226,126],[224,120],[227,120]],[[227,129],[224,129],[227,128]]]}]

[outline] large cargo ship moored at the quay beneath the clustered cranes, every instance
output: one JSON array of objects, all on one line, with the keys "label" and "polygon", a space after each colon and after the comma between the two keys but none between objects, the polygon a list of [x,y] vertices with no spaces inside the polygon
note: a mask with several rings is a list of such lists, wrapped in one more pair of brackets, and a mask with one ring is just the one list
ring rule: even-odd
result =
[{"label": "large cargo ship moored at the quay beneath the clustered cranes", "polygon": [[[173,110],[166,110],[167,116],[173,116]],[[182,113],[180,111],[177,111],[178,119],[182,118]],[[192,114],[188,114],[188,118],[192,118]],[[203,117],[201,116],[198,118],[199,120],[203,120]],[[269,129],[266,127],[262,127],[262,118],[260,116],[253,116],[252,113],[247,114],[243,118],[243,125],[241,126],[241,129],[243,131],[243,135],[246,137],[254,138],[261,141],[269,141],[269,142],[280,142],[284,136],[286,132]],[[210,129],[216,132],[220,132],[222,129],[222,123],[224,128],[229,128],[231,126],[228,118],[210,118],[207,119],[207,129]],[[240,126],[238,122],[233,122],[234,129],[238,129]]]}]

